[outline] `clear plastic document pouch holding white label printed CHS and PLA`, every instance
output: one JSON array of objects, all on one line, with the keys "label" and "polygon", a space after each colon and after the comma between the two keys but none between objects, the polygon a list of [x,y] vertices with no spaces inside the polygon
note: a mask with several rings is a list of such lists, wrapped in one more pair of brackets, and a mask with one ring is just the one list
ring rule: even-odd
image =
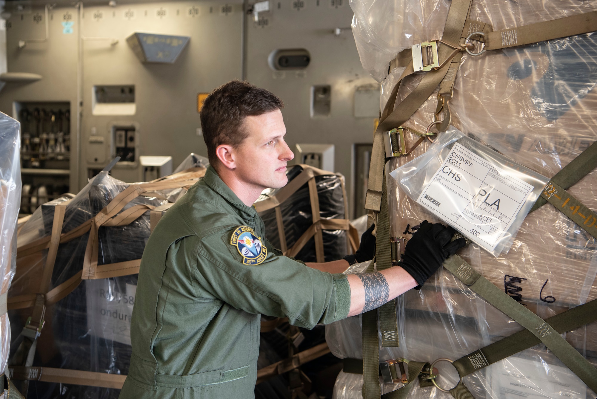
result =
[{"label": "clear plastic document pouch holding white label printed CHS and PLA", "polygon": [[509,250],[549,181],[453,128],[390,175],[408,197],[496,257]]}]

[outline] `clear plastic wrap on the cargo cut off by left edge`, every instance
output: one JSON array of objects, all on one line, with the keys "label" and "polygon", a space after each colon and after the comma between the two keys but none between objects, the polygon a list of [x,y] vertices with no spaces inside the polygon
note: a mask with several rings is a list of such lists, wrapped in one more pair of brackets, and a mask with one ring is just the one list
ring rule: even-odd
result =
[{"label": "clear plastic wrap on the cargo cut off by left edge", "polygon": [[[13,280],[17,256],[17,219],[21,202],[20,124],[0,113],[0,295],[6,295]],[[0,315],[0,370],[10,349],[10,320]]]}]

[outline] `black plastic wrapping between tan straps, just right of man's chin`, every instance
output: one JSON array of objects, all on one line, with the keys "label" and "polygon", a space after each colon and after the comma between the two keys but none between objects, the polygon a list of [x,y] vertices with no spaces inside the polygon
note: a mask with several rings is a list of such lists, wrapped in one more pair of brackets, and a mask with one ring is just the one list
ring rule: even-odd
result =
[{"label": "black plastic wrapping between tan straps, just right of man's chin", "polygon": [[[297,177],[303,171],[300,165],[288,168],[288,181]],[[319,198],[319,214],[321,219],[345,219],[344,191],[341,177],[337,174],[316,176],[317,195]],[[273,191],[271,194],[275,194]],[[287,247],[291,248],[298,238],[313,224],[311,202],[309,197],[309,185],[305,183],[300,189],[294,192],[284,203],[280,205],[282,211],[282,223],[286,235]],[[278,224],[276,223],[275,209],[260,213],[265,224],[266,237],[276,248],[280,248]],[[325,262],[341,259],[348,252],[347,231],[324,230],[324,255]],[[315,256],[315,240],[311,238],[298,251],[295,256],[303,262],[317,262]]]}]

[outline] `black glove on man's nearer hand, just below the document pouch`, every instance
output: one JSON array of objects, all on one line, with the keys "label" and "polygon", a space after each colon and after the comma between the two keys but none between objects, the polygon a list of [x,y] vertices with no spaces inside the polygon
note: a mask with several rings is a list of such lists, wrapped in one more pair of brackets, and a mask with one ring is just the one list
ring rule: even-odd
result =
[{"label": "black glove on man's nearer hand, just below the document pouch", "polygon": [[450,226],[441,223],[432,225],[423,220],[420,228],[408,240],[399,266],[417,281],[415,289],[420,289],[448,256],[466,245],[464,238],[450,241],[454,232]]}]

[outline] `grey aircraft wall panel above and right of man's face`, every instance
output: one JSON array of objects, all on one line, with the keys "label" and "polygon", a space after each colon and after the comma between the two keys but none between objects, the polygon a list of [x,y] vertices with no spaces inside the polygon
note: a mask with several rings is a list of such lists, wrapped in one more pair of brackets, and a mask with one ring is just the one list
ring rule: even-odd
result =
[{"label": "grey aircraft wall panel above and right of man's face", "polygon": [[[247,79],[267,88],[285,103],[282,111],[290,148],[295,143],[330,143],[336,146],[335,171],[352,188],[352,145],[373,141],[374,118],[353,116],[357,87],[375,84],[361,66],[350,30],[352,10],[347,0],[272,0],[259,21],[248,17]],[[340,28],[340,35],[334,29]],[[273,70],[268,57],[276,49],[309,51],[304,70]],[[311,88],[330,85],[329,116],[310,115]],[[352,211],[351,213],[352,214]]]}]

